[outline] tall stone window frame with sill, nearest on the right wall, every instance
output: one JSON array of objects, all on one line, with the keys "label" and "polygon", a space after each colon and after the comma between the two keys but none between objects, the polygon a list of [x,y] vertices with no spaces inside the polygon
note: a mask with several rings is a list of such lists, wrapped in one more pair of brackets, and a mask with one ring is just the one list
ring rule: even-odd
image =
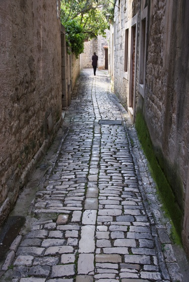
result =
[{"label": "tall stone window frame with sill, nearest on the right wall", "polygon": [[[140,13],[140,34],[139,34],[139,79],[138,79],[138,91],[144,98],[145,89],[145,62],[146,62],[146,48],[147,48],[147,12],[146,6]],[[145,28],[144,28],[145,24]]]}]

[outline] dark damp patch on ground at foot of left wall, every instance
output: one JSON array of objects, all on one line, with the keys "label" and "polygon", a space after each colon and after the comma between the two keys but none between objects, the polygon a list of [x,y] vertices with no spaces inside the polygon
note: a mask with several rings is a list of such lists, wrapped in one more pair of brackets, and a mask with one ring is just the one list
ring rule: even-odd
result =
[{"label": "dark damp patch on ground at foot of left wall", "polygon": [[10,216],[0,229],[0,261],[5,258],[12,242],[26,221],[25,216]]}]

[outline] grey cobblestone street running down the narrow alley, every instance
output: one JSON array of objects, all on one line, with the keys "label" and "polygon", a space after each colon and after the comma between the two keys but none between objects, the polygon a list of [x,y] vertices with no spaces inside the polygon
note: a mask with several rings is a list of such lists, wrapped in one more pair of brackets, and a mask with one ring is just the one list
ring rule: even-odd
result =
[{"label": "grey cobblestone street running down the narrow alley", "polygon": [[135,128],[107,71],[81,71],[63,127],[56,162],[1,281],[186,281]]}]

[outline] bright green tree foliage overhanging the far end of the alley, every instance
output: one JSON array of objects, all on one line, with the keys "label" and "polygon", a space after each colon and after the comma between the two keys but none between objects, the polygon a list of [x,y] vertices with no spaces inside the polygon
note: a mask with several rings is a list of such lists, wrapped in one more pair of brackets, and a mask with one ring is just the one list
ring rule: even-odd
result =
[{"label": "bright green tree foliage overhanging the far end of the alley", "polygon": [[83,52],[84,40],[105,36],[113,18],[114,0],[61,0],[61,21],[68,46],[76,57]]}]

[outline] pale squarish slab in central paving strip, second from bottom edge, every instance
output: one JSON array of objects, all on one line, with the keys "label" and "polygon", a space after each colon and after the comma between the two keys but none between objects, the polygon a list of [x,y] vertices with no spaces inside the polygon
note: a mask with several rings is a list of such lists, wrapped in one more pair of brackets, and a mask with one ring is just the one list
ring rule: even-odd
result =
[{"label": "pale squarish slab in central paving strip, second from bottom edge", "polygon": [[88,274],[94,271],[94,254],[80,253],[78,258],[78,274]]}]

